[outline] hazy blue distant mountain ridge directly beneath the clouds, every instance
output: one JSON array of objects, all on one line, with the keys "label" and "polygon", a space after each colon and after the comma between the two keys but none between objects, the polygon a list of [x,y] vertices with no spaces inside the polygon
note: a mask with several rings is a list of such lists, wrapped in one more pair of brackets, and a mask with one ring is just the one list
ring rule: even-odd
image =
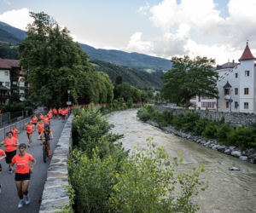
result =
[{"label": "hazy blue distant mountain ridge directly beneath the clouds", "polygon": [[140,70],[153,69],[167,71],[172,68],[170,60],[138,53],[126,53],[120,50],[95,49],[86,44],[79,44],[91,58],[104,60],[116,65],[130,66]]}]

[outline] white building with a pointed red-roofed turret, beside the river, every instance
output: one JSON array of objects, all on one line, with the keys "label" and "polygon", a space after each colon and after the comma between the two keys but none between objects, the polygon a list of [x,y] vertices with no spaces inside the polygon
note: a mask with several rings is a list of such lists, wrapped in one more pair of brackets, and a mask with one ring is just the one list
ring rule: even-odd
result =
[{"label": "white building with a pointed red-roofed turret, beside the river", "polygon": [[[240,63],[226,63],[214,70],[219,73],[217,81],[219,99],[196,96],[191,103],[197,109],[209,109],[218,112],[256,111],[256,65],[251,50],[246,46]],[[233,102],[230,104],[230,100]]]}]

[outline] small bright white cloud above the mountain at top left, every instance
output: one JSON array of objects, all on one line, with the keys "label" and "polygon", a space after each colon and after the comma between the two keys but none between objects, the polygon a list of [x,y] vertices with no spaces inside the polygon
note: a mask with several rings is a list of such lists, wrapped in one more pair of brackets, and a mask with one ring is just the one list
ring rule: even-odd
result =
[{"label": "small bright white cloud above the mountain at top left", "polygon": [[33,22],[32,17],[29,16],[30,9],[17,9],[0,14],[0,21],[3,21],[10,26],[26,31],[27,24]]}]

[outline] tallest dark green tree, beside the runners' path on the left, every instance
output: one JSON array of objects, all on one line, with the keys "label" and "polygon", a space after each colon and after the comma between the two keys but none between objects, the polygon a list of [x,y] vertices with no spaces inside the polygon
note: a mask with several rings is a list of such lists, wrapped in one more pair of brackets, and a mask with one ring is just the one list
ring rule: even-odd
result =
[{"label": "tallest dark green tree, beside the runners' path on the left", "polygon": [[59,26],[48,14],[30,15],[34,22],[27,26],[27,37],[18,47],[30,98],[37,101],[38,97],[45,97],[42,88],[47,88],[47,97],[51,97],[48,106],[58,106],[67,101],[67,89],[71,89],[73,101],[78,102],[84,81],[89,78],[88,56],[79,43],[73,42],[67,28]]}]

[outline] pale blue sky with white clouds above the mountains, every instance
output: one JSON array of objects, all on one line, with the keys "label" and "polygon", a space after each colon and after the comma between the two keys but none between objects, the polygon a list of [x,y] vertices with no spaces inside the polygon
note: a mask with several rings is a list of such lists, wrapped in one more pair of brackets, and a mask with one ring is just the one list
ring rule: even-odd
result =
[{"label": "pale blue sky with white clouds above the mountains", "polygon": [[21,30],[29,11],[53,16],[74,41],[167,60],[200,55],[236,62],[248,40],[256,56],[256,0],[0,0],[0,21]]}]

